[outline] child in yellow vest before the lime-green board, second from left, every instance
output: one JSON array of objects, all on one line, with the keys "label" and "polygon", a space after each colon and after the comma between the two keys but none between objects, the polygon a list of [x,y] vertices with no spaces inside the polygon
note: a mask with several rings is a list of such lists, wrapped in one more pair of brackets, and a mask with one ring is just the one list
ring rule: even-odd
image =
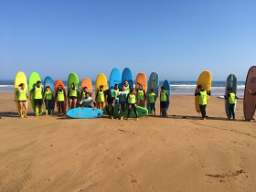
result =
[{"label": "child in yellow vest before the lime-green board, second from left", "polygon": [[35,94],[34,97],[34,111],[35,111],[35,117],[37,117],[37,105],[39,105],[39,113],[41,116],[43,116],[43,109],[42,109],[42,105],[43,105],[43,89],[41,87],[41,81],[37,80],[37,86],[33,88],[33,90],[30,93],[30,101],[32,100],[32,94]]}]

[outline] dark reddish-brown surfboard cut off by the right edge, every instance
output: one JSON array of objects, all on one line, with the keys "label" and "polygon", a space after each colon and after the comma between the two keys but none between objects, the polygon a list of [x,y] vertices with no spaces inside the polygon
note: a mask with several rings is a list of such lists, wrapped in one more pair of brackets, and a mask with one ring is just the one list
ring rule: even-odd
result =
[{"label": "dark reddish-brown surfboard cut off by the right edge", "polygon": [[256,66],[249,69],[245,81],[243,113],[246,121],[251,121],[256,108],[256,95],[252,95],[250,90],[251,93],[256,92]]}]

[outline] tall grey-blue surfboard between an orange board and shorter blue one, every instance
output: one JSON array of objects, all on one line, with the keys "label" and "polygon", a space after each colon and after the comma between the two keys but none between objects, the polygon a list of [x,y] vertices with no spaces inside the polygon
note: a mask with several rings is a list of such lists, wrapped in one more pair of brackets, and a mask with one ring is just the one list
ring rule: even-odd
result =
[{"label": "tall grey-blue surfboard between an orange board and shorter blue one", "polygon": [[[158,97],[158,92],[159,92],[159,77],[157,72],[153,72],[150,74],[148,83],[147,83],[147,92],[146,95],[148,95],[151,91],[151,89],[154,89],[156,98]],[[155,99],[156,102],[156,99]],[[149,99],[147,98],[146,100],[146,108],[149,111],[150,106],[149,106]]]}]

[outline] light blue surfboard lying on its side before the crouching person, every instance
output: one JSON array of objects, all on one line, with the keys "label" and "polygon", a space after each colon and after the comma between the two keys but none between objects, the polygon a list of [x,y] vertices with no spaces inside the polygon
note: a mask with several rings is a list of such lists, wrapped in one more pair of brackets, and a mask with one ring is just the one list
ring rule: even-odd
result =
[{"label": "light blue surfboard lying on its side before the crouching person", "polygon": [[75,119],[92,119],[92,118],[98,118],[102,116],[102,111],[99,109],[93,110],[92,108],[75,108],[72,110],[69,110],[67,112],[67,115],[70,118],[75,118]]}]

